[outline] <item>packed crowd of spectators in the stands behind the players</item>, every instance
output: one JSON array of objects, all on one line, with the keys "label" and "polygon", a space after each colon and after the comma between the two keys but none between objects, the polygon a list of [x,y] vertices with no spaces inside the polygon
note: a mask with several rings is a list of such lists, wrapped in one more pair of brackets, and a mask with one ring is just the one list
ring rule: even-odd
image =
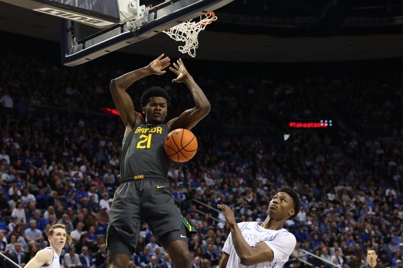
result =
[{"label": "packed crowd of spectators in the stands behind the players", "polygon": [[[109,80],[123,71],[94,64],[66,68],[2,53],[0,251],[24,266],[48,246],[50,226],[61,223],[69,234],[64,267],[106,267],[123,125],[117,116],[100,114],[99,105],[113,108]],[[302,200],[298,217],[286,222],[297,238],[286,266],[303,265],[298,258],[331,266],[302,248],[345,268],[360,267],[369,247],[377,249],[378,264],[403,266],[401,75],[230,81],[208,79],[199,70],[194,76],[212,111],[194,130],[196,156],[172,162],[168,173],[182,215],[198,232],[188,237],[194,267],[217,265],[228,236],[223,215],[212,208],[227,204],[238,222],[263,221],[284,185]],[[154,83],[146,78],[130,94],[140,100]],[[172,97],[172,116],[191,107],[190,94],[169,77],[158,83]],[[323,115],[333,118],[331,129],[294,131],[284,123]],[[266,136],[289,132],[290,138],[262,138],[259,124],[267,126]],[[244,126],[249,134],[219,134],[218,125]],[[131,259],[131,267],[172,267],[147,224]],[[0,257],[0,267],[13,264]]]}]

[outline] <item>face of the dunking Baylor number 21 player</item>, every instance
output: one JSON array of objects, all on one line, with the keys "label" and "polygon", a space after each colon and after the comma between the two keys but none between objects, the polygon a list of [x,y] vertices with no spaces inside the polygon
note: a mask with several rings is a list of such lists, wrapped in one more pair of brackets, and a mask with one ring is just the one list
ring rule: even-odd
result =
[{"label": "face of the dunking Baylor number 21 player", "polygon": [[162,124],[168,113],[167,100],[162,97],[151,97],[146,107],[143,108],[146,114],[146,122],[151,124]]}]

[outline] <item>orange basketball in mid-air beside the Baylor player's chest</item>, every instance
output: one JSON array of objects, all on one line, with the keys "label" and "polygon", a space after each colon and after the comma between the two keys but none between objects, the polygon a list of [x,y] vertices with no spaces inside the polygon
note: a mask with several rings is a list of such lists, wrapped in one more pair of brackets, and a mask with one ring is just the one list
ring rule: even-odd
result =
[{"label": "orange basketball in mid-air beside the Baylor player's chest", "polygon": [[189,161],[197,152],[197,139],[187,129],[172,130],[165,139],[164,150],[175,162]]}]

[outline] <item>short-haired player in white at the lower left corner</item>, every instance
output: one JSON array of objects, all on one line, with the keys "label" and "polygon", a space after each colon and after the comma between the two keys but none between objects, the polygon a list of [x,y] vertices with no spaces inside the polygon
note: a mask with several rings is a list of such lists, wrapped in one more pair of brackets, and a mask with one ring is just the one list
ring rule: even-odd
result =
[{"label": "short-haired player in white at the lower left corner", "polygon": [[65,225],[55,224],[50,227],[47,239],[50,246],[39,250],[25,268],[60,268],[59,256],[66,242]]}]

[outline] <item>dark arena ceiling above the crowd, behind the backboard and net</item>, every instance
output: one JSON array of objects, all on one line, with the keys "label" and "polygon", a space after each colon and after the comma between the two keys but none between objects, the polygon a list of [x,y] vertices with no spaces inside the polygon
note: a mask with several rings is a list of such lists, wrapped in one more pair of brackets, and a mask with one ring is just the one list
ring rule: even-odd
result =
[{"label": "dark arena ceiling above the crowd, behind the backboard and net", "polygon": [[[143,0],[156,5],[162,1]],[[403,56],[403,0],[235,0],[199,35],[201,60],[298,62]],[[59,42],[59,19],[0,2],[0,31]],[[183,56],[164,34],[119,51]]]}]

